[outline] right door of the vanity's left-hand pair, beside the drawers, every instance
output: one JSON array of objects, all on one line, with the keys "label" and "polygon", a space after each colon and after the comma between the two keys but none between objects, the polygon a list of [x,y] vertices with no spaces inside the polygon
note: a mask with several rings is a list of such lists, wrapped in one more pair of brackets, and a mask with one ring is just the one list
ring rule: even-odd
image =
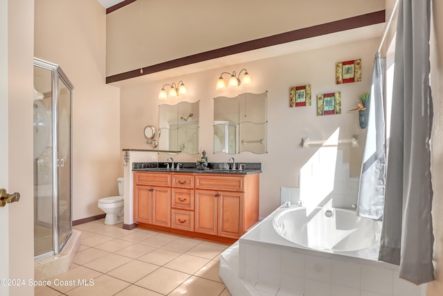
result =
[{"label": "right door of the vanity's left-hand pair, beside the drawers", "polygon": [[171,226],[171,189],[152,187],[152,224]]}]

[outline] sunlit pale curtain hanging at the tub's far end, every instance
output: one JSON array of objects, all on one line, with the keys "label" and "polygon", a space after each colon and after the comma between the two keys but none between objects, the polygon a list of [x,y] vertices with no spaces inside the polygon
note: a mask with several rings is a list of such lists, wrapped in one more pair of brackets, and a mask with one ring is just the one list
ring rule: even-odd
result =
[{"label": "sunlit pale curtain hanging at the tub's far end", "polygon": [[357,215],[379,220],[383,216],[386,183],[385,121],[383,81],[385,60],[377,53],[372,69],[368,132],[361,166]]}]

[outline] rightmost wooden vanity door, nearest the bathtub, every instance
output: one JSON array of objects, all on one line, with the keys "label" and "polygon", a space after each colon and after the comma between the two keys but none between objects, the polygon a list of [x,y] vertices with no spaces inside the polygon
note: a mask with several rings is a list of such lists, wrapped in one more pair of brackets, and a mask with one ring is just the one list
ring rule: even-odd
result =
[{"label": "rightmost wooden vanity door, nearest the bathtub", "polygon": [[218,235],[239,238],[242,235],[242,200],[244,193],[219,192]]}]

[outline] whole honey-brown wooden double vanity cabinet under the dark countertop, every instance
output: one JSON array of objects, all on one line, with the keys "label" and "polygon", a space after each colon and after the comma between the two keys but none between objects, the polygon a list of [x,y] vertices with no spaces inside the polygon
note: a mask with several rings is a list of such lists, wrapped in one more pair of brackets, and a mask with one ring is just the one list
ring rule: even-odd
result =
[{"label": "whole honey-brown wooden double vanity cabinet under the dark countertop", "polygon": [[134,172],[139,227],[233,243],[258,221],[260,174]]}]

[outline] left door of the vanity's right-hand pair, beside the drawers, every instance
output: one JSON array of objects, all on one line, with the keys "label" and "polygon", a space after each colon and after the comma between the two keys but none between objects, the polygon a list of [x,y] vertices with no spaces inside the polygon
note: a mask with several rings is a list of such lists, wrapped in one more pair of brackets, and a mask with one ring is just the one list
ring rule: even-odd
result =
[{"label": "left door of the vanity's right-hand pair, beside the drawers", "polygon": [[217,191],[195,191],[195,232],[217,234]]}]

